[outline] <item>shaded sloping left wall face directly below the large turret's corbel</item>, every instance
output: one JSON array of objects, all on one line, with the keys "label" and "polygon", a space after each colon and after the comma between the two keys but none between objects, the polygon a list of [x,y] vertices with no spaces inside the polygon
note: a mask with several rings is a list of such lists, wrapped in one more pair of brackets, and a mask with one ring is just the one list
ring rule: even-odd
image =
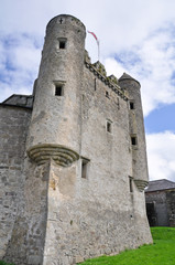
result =
[{"label": "shaded sloping left wall face directly below the large turret's corbel", "polygon": [[36,167],[26,159],[23,174],[25,176],[23,195],[4,261],[15,265],[42,265],[50,165]]}]

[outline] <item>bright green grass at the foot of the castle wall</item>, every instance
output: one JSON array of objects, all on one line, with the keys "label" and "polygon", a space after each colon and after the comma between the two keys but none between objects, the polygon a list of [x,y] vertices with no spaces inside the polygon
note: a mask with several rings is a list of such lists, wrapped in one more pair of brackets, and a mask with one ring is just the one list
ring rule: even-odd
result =
[{"label": "bright green grass at the foot of the castle wall", "polygon": [[81,265],[175,265],[175,229],[152,227],[154,244],[125,251],[117,256],[88,259]]}]

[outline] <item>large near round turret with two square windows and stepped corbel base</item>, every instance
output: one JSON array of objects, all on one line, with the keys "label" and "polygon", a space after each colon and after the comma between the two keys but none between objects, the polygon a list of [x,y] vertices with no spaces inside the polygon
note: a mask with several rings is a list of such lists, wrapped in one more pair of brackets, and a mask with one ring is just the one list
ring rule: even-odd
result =
[{"label": "large near round turret with two square windows and stepped corbel base", "polygon": [[72,15],[47,24],[28,138],[28,153],[39,163],[53,158],[67,166],[78,158],[85,36]]}]

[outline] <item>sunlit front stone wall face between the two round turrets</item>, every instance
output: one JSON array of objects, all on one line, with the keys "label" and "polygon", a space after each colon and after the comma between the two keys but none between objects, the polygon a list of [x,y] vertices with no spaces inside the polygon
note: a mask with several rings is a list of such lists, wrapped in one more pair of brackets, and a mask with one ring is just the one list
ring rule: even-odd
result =
[{"label": "sunlit front stone wall face between the two round turrets", "polygon": [[80,159],[68,168],[51,165],[44,265],[75,264],[152,242],[144,193],[134,182],[130,190],[128,102],[86,66],[79,97]]}]

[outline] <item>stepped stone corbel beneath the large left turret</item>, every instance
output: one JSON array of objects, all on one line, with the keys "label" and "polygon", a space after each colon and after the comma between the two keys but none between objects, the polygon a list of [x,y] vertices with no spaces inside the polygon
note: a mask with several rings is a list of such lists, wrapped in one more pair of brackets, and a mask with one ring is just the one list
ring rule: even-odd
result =
[{"label": "stepped stone corbel beneath the large left turret", "polygon": [[76,151],[54,144],[36,145],[31,147],[26,152],[37,166],[53,159],[58,166],[68,167],[79,159],[79,155]]}]

